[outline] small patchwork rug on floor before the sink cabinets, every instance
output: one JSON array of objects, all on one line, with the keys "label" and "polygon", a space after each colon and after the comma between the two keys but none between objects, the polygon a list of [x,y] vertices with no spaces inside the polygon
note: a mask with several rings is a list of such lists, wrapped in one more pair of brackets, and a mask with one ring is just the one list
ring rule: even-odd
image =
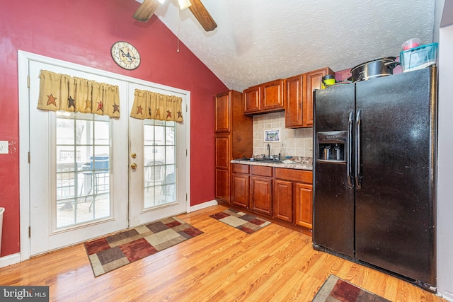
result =
[{"label": "small patchwork rug on floor before the sink cabinets", "polygon": [[222,221],[234,228],[244,231],[248,234],[258,231],[260,228],[264,228],[270,224],[270,221],[259,219],[256,216],[243,213],[236,209],[227,209],[216,214],[210,215],[210,217]]}]

